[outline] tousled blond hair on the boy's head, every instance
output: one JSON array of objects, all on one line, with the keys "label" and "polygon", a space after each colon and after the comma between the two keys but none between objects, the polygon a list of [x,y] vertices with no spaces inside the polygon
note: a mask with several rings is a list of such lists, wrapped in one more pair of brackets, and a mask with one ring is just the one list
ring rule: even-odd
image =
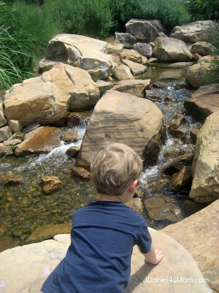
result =
[{"label": "tousled blond hair on the boy's head", "polygon": [[142,172],[142,160],[125,144],[109,143],[100,146],[91,161],[90,169],[97,191],[119,196]]}]

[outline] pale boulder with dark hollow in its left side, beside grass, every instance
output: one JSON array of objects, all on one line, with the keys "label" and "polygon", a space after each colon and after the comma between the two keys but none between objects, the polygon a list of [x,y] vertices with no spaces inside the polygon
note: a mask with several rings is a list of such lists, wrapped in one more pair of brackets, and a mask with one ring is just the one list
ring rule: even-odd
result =
[{"label": "pale boulder with dark hollow in its left side, beside grass", "polygon": [[107,42],[83,35],[55,35],[48,44],[46,58],[39,62],[43,71],[50,70],[57,62],[67,63],[87,70],[94,79],[109,76],[114,63],[106,54]]}]

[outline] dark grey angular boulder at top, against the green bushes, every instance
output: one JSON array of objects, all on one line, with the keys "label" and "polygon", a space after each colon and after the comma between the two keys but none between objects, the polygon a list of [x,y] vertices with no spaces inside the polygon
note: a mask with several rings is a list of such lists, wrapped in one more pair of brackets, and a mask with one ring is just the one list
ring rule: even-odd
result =
[{"label": "dark grey angular boulder at top, against the green bushes", "polygon": [[135,36],[141,42],[153,42],[156,37],[165,36],[160,20],[130,19],[125,24],[126,31]]}]

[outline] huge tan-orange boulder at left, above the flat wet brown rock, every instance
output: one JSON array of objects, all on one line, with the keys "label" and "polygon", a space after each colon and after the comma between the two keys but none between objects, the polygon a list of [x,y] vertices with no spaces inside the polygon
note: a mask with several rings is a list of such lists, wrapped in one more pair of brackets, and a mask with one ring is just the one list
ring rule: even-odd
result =
[{"label": "huge tan-orange boulder at left, above the flat wet brown rock", "polygon": [[68,111],[93,107],[98,86],[83,69],[58,63],[42,76],[24,80],[6,91],[5,115],[22,126],[33,122],[64,125]]}]

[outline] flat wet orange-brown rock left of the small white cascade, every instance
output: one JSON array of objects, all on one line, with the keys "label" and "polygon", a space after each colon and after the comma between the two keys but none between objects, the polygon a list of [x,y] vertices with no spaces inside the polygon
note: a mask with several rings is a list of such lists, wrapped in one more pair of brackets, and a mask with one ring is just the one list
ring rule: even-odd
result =
[{"label": "flat wet orange-brown rock left of the small white cascade", "polygon": [[43,126],[26,134],[24,141],[16,145],[15,155],[48,154],[60,146],[60,131],[56,127]]}]

